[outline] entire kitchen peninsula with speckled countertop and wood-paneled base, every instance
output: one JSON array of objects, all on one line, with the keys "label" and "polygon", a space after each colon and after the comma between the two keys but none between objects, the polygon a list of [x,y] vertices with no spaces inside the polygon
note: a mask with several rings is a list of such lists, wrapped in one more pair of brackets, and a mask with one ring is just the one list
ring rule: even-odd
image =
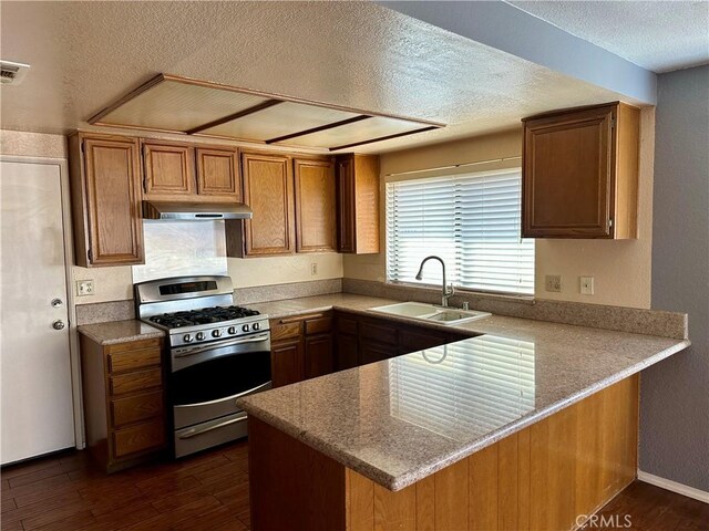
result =
[{"label": "entire kitchen peninsula with speckled countertop and wood-paneled base", "polygon": [[253,529],[572,529],[634,480],[637,373],[687,340],[460,329],[483,335],[242,399]]}]

